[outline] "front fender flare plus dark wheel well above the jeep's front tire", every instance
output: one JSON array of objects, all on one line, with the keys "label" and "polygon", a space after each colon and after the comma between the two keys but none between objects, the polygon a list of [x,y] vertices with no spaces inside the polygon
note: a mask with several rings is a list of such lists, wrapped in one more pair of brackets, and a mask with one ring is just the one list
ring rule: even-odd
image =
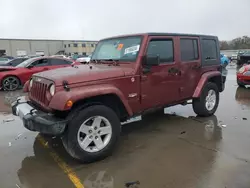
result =
[{"label": "front fender flare plus dark wheel well above the jeep's front tire", "polygon": [[[73,102],[73,106],[65,107],[66,102],[69,100]],[[132,115],[132,109],[123,93],[118,88],[110,85],[75,88],[70,92],[61,90],[53,96],[49,107],[58,111],[71,111],[72,109],[81,108],[81,106],[85,107],[97,103],[110,107],[116,113],[119,113],[119,117]]]}]

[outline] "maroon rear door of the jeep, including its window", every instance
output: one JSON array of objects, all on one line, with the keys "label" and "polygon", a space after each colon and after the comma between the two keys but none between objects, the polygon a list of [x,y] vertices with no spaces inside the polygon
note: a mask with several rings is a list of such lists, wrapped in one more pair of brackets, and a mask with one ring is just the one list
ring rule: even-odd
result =
[{"label": "maroon rear door of the jeep, including its window", "polygon": [[201,53],[198,37],[179,37],[181,85],[180,98],[192,97],[200,80]]}]

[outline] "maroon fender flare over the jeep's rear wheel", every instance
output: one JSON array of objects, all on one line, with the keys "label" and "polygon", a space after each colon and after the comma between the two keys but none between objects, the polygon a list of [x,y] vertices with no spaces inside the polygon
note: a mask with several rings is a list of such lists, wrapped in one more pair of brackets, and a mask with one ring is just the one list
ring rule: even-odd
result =
[{"label": "maroon fender flare over the jeep's rear wheel", "polygon": [[194,94],[193,94],[193,98],[198,98],[198,97],[200,97],[200,94],[201,94],[201,92],[202,92],[202,89],[203,89],[204,85],[207,83],[207,81],[208,81],[210,78],[216,77],[216,76],[221,76],[221,73],[220,73],[219,71],[210,71],[210,72],[204,73],[204,74],[201,76],[198,85],[196,86],[196,89],[195,89]]}]

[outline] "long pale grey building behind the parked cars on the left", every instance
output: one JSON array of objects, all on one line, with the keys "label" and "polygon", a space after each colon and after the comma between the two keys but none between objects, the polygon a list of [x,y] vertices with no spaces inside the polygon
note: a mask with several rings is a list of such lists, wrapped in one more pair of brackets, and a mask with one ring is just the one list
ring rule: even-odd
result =
[{"label": "long pale grey building behind the parked cars on the left", "polygon": [[97,41],[0,39],[0,56],[78,54],[90,55]]}]

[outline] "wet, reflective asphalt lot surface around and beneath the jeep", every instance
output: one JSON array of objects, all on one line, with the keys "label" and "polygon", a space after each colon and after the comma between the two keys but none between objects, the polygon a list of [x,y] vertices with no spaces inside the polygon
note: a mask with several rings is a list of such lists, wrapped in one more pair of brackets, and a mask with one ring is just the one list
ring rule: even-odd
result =
[{"label": "wet, reflective asphalt lot surface around and beneath the jeep", "polygon": [[71,159],[60,139],[23,128],[9,107],[22,91],[1,92],[0,187],[79,187],[74,173],[84,188],[134,181],[137,188],[249,188],[250,88],[238,88],[235,74],[229,66],[214,116],[196,117],[191,105],[147,115],[123,125],[114,154],[92,164]]}]

